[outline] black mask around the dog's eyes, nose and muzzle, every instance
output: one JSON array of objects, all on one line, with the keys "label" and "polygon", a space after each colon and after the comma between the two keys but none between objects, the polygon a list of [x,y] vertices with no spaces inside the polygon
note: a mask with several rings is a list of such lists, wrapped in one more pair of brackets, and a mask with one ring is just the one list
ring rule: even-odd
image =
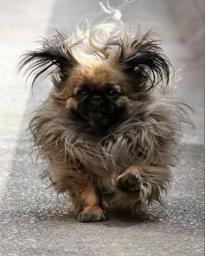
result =
[{"label": "black mask around the dog's eyes, nose and muzzle", "polygon": [[126,113],[126,106],[119,103],[120,96],[114,84],[104,84],[102,88],[83,84],[73,95],[77,104],[71,106],[70,111],[74,117],[90,126],[107,126],[122,120]]}]

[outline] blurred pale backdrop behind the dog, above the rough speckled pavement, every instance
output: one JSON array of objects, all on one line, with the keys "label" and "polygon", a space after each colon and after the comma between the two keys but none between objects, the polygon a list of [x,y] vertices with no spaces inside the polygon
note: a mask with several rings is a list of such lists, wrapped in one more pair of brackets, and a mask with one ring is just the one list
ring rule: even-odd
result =
[{"label": "blurred pale backdrop behind the dog, above the rough speckled pavement", "polygon": [[[110,1],[117,7],[123,1]],[[23,51],[36,49],[38,36],[51,38],[53,30],[75,32],[78,19],[85,14],[99,12],[97,0],[1,1],[0,10],[0,74],[1,122],[0,139],[16,139],[26,128],[31,109],[45,97],[50,81],[44,80],[25,88],[22,73],[17,76],[15,66]],[[182,69],[183,80],[176,95],[190,104],[196,112],[196,132],[192,143],[202,143],[204,124],[204,1],[203,0],[136,0],[122,9],[125,22],[142,31],[152,29],[160,35],[164,53],[175,70]]]}]

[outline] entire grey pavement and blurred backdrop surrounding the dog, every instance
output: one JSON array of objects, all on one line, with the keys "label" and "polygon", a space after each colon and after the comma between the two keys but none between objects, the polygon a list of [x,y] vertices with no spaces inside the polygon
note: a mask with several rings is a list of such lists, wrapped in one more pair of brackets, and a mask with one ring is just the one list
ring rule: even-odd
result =
[{"label": "entire grey pavement and blurred backdrop surrounding the dog", "polygon": [[[121,1],[110,1],[116,6]],[[196,131],[173,169],[165,208],[150,206],[137,217],[108,211],[107,222],[78,223],[70,202],[44,190],[26,138],[32,109],[49,91],[49,79],[34,96],[15,66],[37,36],[53,28],[74,30],[79,17],[99,10],[98,1],[1,1],[0,8],[0,255],[204,255],[204,37],[203,1],[136,0],[124,20],[160,34],[174,68],[182,68],[177,93],[196,112]]]}]

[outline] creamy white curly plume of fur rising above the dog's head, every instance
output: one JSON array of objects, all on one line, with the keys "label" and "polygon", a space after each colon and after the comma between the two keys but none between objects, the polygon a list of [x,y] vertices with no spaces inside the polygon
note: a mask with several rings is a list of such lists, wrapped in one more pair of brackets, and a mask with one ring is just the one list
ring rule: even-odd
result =
[{"label": "creamy white curly plume of fur rising above the dog's head", "polygon": [[[110,45],[120,39],[120,35],[125,34],[125,24],[121,20],[120,9],[125,5],[129,5],[132,1],[124,1],[117,9],[111,7],[107,1],[107,6],[100,2],[102,12],[100,15],[106,14],[107,17],[99,22],[99,14],[97,15],[98,24],[95,25],[95,17],[93,19],[86,18],[87,15],[81,17],[77,24],[77,38],[80,40],[84,38],[83,42],[76,47],[76,53],[81,58],[87,58],[92,55],[92,58],[97,60],[106,59],[110,55],[112,49]],[[93,15],[94,16],[94,15]]]}]

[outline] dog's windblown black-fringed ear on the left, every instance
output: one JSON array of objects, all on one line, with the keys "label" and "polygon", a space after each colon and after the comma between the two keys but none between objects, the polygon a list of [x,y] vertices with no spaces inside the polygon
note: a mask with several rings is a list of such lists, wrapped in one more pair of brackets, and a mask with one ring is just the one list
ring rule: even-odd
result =
[{"label": "dog's windblown black-fringed ear on the left", "polygon": [[69,69],[78,65],[71,50],[74,44],[69,46],[66,39],[65,34],[58,32],[53,40],[48,41],[45,39],[44,41],[38,41],[42,45],[41,48],[22,55],[18,70],[20,71],[25,65],[29,64],[24,74],[29,72],[29,77],[37,71],[32,82],[32,87],[36,79],[51,67],[54,68],[46,76],[49,74],[58,74],[61,82],[64,82],[69,76]]}]

